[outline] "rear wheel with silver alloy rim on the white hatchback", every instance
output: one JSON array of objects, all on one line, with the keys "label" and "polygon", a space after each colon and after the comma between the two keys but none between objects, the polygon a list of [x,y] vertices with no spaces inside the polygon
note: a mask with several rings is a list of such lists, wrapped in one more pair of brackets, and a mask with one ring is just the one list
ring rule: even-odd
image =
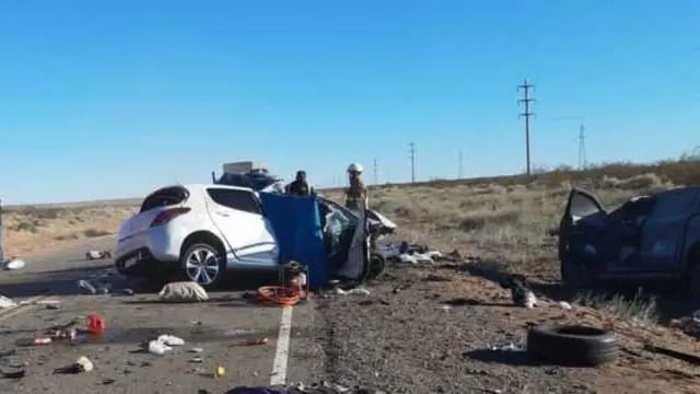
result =
[{"label": "rear wheel with silver alloy rim on the white hatchback", "polygon": [[196,281],[207,290],[219,286],[225,270],[221,253],[207,243],[195,243],[185,248],[179,265],[185,280]]}]

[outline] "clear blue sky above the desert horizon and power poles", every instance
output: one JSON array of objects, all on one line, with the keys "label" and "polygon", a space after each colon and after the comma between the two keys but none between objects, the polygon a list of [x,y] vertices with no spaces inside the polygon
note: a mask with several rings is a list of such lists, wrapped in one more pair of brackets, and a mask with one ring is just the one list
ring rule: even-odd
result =
[{"label": "clear blue sky above the desert horizon and power poles", "polygon": [[[0,196],[141,197],[257,159],[342,182],[524,170],[515,86],[536,84],[535,165],[700,146],[700,2],[0,3]],[[371,171],[366,174],[372,181]]]}]

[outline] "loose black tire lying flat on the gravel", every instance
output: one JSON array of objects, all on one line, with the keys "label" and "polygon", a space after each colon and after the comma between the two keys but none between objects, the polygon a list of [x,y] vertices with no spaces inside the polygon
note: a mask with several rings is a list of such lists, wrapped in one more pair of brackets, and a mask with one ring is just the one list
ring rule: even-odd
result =
[{"label": "loose black tire lying flat on the gravel", "polygon": [[578,325],[540,325],[527,333],[527,352],[546,362],[596,367],[617,359],[615,333]]}]

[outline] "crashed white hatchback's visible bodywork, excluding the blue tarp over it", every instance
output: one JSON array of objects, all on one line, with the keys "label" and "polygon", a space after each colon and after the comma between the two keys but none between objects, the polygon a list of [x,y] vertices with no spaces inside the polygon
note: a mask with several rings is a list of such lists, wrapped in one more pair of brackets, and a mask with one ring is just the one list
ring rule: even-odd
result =
[{"label": "crashed white hatchback's visible bodywork, excluding the blue tarp over it", "polygon": [[[358,217],[319,198],[324,237],[330,254],[347,258],[347,234],[358,228]],[[376,223],[370,234],[386,230]],[[388,227],[395,224],[383,217]],[[335,233],[334,233],[335,232]],[[343,237],[345,236],[345,237]],[[341,237],[342,241],[339,241]],[[332,239],[332,240],[331,240]],[[340,245],[340,246],[339,246]],[[345,247],[346,251],[339,251]],[[345,256],[345,257],[343,257]],[[222,258],[225,257],[225,258]],[[276,269],[279,250],[275,231],[256,192],[228,185],[177,185],[160,188],[142,202],[138,213],[119,229],[115,264],[125,275],[155,280],[178,274],[206,288],[215,287],[225,271],[236,268]]]}]

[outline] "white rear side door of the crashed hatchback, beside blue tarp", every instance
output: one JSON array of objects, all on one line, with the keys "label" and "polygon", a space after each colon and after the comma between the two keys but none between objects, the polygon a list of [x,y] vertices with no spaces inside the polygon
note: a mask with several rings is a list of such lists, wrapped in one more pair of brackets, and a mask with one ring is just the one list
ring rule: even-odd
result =
[{"label": "white rear side door of the crashed hatchback, beside blue tarp", "polygon": [[255,194],[225,187],[208,187],[207,194],[209,216],[232,253],[228,258],[242,264],[277,265],[275,232]]}]

